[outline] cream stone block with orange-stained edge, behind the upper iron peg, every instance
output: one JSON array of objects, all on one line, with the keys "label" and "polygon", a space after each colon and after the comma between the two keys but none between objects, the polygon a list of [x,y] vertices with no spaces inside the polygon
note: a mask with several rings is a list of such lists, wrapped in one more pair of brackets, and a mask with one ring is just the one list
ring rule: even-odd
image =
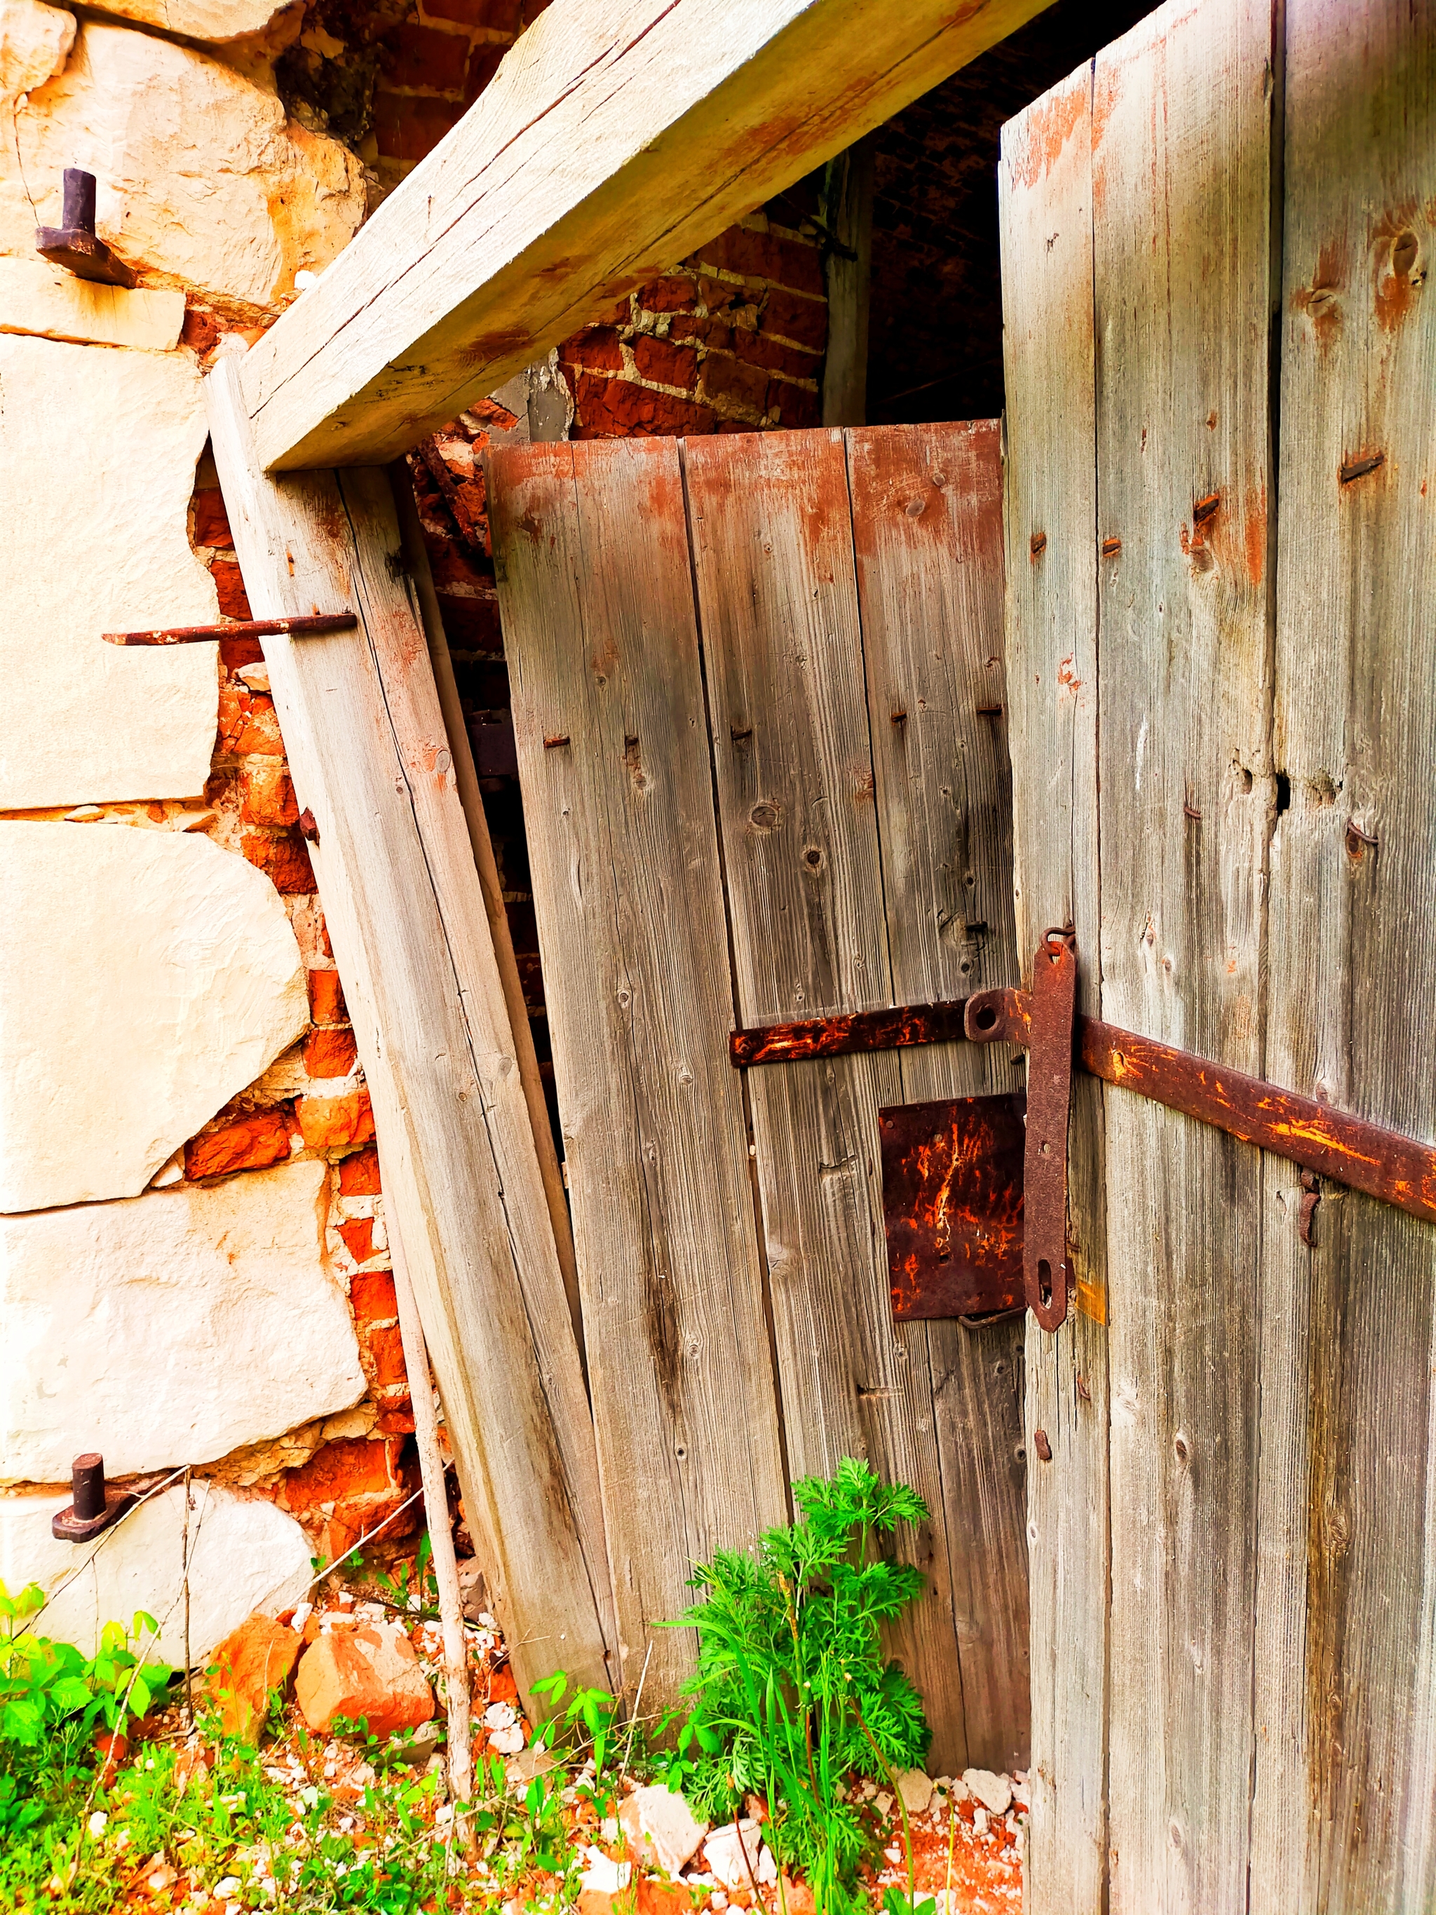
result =
[{"label": "cream stone block with orange-stained edge, behind the upper iron peg", "polygon": [[59,224],[65,167],[94,172],[96,230],[146,285],[241,320],[272,310],[297,270],[322,272],[366,207],[360,161],[287,121],[276,94],[105,21],[80,27],[0,144],[0,253],[33,253],[36,216]]}]

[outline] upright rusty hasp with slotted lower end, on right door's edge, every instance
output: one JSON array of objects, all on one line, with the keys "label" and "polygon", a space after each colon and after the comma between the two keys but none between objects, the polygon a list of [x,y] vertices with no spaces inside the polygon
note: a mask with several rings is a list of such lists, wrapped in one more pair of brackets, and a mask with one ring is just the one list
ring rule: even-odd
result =
[{"label": "upright rusty hasp with slotted lower end, on right door's edge", "polygon": [[1072,1105],[1074,1017],[1076,938],[1070,931],[1047,931],[1032,959],[1022,1162],[1022,1287],[1028,1310],[1045,1331],[1065,1321],[1072,1281],[1066,1258],[1066,1116]]}]

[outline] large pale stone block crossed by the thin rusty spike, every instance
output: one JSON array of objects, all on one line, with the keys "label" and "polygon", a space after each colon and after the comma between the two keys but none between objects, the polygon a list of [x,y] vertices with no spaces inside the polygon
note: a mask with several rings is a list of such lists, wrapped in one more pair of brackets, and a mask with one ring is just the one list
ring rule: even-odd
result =
[{"label": "large pale stone block crossed by the thin rusty spike", "polygon": [[205,789],[216,647],[101,643],[218,619],[186,534],[203,448],[188,354],[0,337],[0,810]]}]

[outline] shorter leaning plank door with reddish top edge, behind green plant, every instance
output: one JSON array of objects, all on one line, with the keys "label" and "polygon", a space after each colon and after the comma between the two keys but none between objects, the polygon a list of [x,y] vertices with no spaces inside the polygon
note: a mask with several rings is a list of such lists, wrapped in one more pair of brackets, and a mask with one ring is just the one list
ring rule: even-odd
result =
[{"label": "shorter leaning plank door with reddish top edge, behind green plant", "polygon": [[737,1025],[1017,979],[994,421],[490,469],[624,1685],[693,1565],[867,1457],[931,1526],[938,1769],[1026,1758],[1021,1321],[894,1325],[877,1111],[973,1046],[739,1076]]}]

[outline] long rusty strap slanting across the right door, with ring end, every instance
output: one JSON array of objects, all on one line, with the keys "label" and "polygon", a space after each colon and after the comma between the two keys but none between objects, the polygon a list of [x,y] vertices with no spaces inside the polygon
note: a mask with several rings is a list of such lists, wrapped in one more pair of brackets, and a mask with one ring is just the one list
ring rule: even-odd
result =
[{"label": "long rusty strap slanting across the right door, with ring end", "polygon": [[[969,998],[967,1036],[975,1044],[1030,1046],[1032,998],[1024,990]],[[1076,1063],[1105,1084],[1135,1090],[1241,1143],[1436,1224],[1436,1149],[1430,1143],[1095,1017],[1076,1019],[1074,1049]]]}]

